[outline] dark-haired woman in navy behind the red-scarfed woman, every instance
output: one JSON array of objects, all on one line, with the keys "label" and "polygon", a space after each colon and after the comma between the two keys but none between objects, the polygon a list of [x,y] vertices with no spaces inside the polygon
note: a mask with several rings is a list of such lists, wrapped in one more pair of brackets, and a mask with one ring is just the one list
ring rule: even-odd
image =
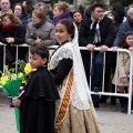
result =
[{"label": "dark-haired woman in navy behind the red-scarfed woman", "polygon": [[21,3],[16,3],[13,13],[16,17],[18,17],[21,20],[22,25],[24,25],[24,28],[25,28],[27,27],[27,17],[24,14],[23,7]]}]

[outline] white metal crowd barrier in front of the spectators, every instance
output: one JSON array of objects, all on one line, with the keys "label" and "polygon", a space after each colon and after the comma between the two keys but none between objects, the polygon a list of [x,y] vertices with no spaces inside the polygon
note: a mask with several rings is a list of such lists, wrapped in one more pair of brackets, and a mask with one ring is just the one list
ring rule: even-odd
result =
[{"label": "white metal crowd barrier in front of the spectators", "polygon": [[[6,64],[6,44],[3,43],[0,43],[0,45],[3,47],[3,65]],[[16,61],[18,60],[18,48],[19,47],[29,47],[28,44],[13,44],[12,47],[16,47],[17,48],[17,53],[16,53]],[[50,50],[54,50],[58,48],[58,45],[52,45],[52,47],[49,47]],[[79,47],[80,50],[88,50],[85,47]],[[100,51],[99,48],[94,48],[95,51]],[[108,49],[108,51],[112,51],[112,49]],[[108,52],[106,51],[106,52]],[[105,92],[104,91],[104,73],[105,73],[105,53],[104,52],[104,65],[103,65],[103,82],[102,82],[102,90],[101,92],[93,92],[91,91],[91,94],[99,94],[99,95],[112,95],[112,96],[124,96],[124,98],[127,98],[129,99],[129,106],[127,106],[127,114],[131,114],[131,99],[132,99],[132,63],[133,63],[133,59],[132,59],[132,53],[129,51],[129,50],[123,50],[123,49],[117,49],[115,52],[117,52],[117,55],[120,52],[126,52],[129,53],[130,55],[130,59],[131,59],[131,63],[130,63],[130,83],[129,83],[129,93],[117,93],[117,88],[115,85],[115,92]],[[112,51],[113,52],[113,51]],[[119,57],[117,57],[117,60],[119,60]],[[91,61],[92,61],[92,54],[91,54]],[[16,72],[18,71],[18,64],[16,64]],[[117,65],[116,65],[116,71],[117,71]],[[4,72],[4,70],[3,70]],[[117,76],[117,74],[116,74]],[[91,75],[90,75],[90,88],[91,88]]]}]

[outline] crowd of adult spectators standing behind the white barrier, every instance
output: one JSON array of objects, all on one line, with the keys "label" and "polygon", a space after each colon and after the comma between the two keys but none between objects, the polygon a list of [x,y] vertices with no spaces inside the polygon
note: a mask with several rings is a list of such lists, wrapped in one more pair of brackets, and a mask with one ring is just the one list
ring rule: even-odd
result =
[{"label": "crowd of adult spectators standing behind the white barrier", "polygon": [[[79,10],[71,10],[71,4],[64,1],[54,3],[53,8],[48,0],[41,0],[33,7],[28,1],[23,1],[22,3],[16,3],[13,9],[11,9],[11,1],[1,0],[0,42],[8,45],[7,63],[11,64],[14,62],[16,49],[11,44],[54,45],[57,43],[54,25],[61,19],[71,19],[79,29],[79,45],[86,47],[89,50],[81,52],[88,83],[90,84],[91,74],[91,90],[101,91],[103,53],[109,48],[116,50],[124,34],[127,31],[133,31],[132,6],[133,3],[124,8],[121,3],[115,3],[109,11],[105,11],[103,4],[93,1],[82,14]],[[100,48],[101,50],[95,52],[94,48]],[[0,47],[0,62],[2,62],[2,47]],[[27,60],[27,52],[28,49],[20,48],[19,59]],[[93,54],[92,63],[90,63],[91,52]],[[111,74],[114,74],[115,71],[116,53],[108,53],[105,65],[104,86],[105,91],[110,91],[108,86],[111,84]],[[2,65],[0,69],[2,70]],[[106,71],[110,71],[110,74],[106,74]],[[114,85],[111,89],[114,92]],[[92,99],[95,108],[99,108],[100,102],[106,102],[106,96],[100,99],[99,95],[92,95]],[[111,104],[116,104],[113,96]]]}]

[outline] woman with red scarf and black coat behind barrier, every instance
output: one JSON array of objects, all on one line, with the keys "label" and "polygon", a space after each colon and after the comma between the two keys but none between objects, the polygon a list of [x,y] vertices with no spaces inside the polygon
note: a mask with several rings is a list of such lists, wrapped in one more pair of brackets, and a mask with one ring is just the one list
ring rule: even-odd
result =
[{"label": "woman with red scarf and black coat behind barrier", "polygon": [[[16,48],[11,44],[22,44],[25,42],[25,30],[23,29],[20,19],[13,13],[7,12],[1,17],[2,23],[0,27],[0,42],[7,44],[6,60],[9,65],[16,61]],[[24,60],[27,48],[19,48],[19,59]],[[1,57],[3,58],[3,57]],[[2,64],[2,62],[1,62]]]}]

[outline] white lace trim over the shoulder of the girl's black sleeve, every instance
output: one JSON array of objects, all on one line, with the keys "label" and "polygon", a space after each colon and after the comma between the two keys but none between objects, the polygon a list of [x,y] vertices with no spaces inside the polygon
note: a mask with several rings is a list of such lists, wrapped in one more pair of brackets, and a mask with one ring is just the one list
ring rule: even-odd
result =
[{"label": "white lace trim over the shoulder of the girl's black sleeve", "polygon": [[60,51],[57,51],[57,53],[54,53],[54,54],[55,55],[51,58],[51,62],[49,65],[50,70],[55,69],[62,59],[72,59],[73,60],[72,51],[66,48],[62,48]]}]

